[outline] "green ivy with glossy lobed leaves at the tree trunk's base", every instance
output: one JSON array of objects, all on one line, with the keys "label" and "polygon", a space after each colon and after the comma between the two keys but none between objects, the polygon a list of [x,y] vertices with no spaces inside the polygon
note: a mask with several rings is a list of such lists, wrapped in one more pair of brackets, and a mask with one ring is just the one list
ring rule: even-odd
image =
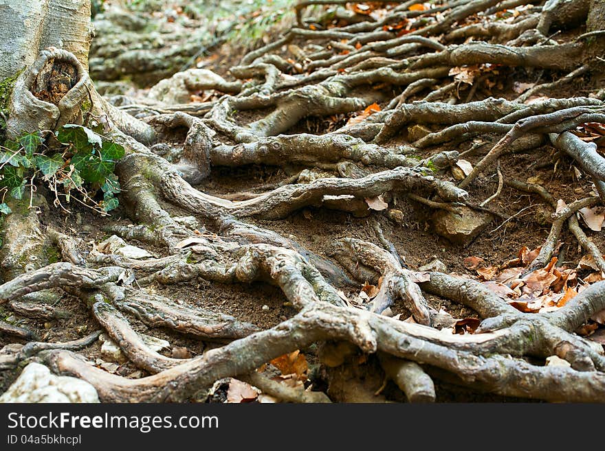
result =
[{"label": "green ivy with glossy lobed leaves at the tree trunk's base", "polygon": [[115,163],[124,157],[124,148],[100,134],[100,128],[67,124],[54,132],[56,143],[46,146],[39,131],[7,140],[0,146],[0,213],[10,213],[5,197],[21,200],[25,189],[34,189],[41,178],[55,195],[54,204],[75,199],[100,213],[118,207],[120,192]]}]

